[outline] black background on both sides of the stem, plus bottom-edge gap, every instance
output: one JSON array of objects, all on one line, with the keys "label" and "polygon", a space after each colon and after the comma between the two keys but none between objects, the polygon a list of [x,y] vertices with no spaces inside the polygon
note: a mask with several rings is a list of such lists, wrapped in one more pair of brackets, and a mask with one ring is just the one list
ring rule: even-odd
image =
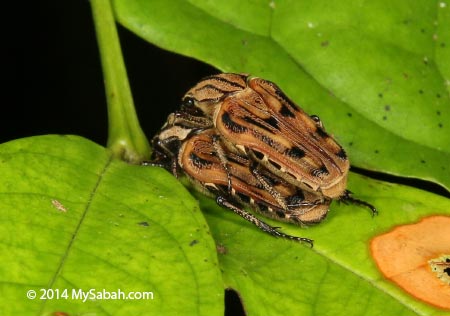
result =
[{"label": "black background on both sides of the stem, plus bottom-edge gap", "polygon": [[[2,5],[0,143],[75,134],[106,145],[107,110],[88,0]],[[153,46],[118,26],[141,126],[151,138],[183,94],[218,70]],[[226,314],[243,314],[226,291]]]}]

